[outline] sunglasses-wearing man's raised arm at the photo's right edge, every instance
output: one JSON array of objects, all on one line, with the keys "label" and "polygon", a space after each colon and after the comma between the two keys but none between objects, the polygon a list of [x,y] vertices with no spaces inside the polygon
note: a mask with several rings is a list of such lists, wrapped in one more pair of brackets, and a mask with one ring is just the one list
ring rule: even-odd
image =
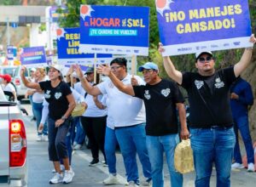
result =
[{"label": "sunglasses-wearing man's raised arm at the photo's right edge", "polygon": [[[250,37],[250,42],[253,44],[256,42],[256,38],[254,37],[254,34]],[[241,59],[239,62],[236,63],[234,66],[234,72],[236,77],[239,77],[241,75],[241,72],[244,71],[247,66],[250,64],[251,58],[253,54],[253,48],[245,48]]]}]

